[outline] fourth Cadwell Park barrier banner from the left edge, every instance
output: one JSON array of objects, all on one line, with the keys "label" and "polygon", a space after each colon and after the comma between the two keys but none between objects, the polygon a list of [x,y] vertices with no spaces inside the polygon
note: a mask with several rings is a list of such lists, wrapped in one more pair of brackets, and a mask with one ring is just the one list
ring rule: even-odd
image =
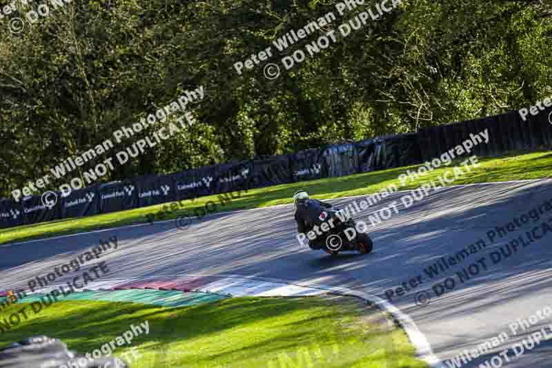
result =
[{"label": "fourth Cadwell Park barrier banner from the left edge", "polygon": [[99,195],[99,212],[110,213],[134,209],[138,205],[138,195],[134,181],[109,182],[100,184],[97,188]]}]

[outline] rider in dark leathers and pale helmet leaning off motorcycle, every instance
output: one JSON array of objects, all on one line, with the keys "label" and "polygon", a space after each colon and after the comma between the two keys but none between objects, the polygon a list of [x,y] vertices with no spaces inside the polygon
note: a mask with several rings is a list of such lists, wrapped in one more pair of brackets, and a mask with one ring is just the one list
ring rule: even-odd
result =
[{"label": "rider in dark leathers and pale helmet leaning off motorcycle", "polygon": [[[320,215],[324,212],[324,209],[330,209],[331,204],[325,203],[319,200],[311,200],[308,197],[306,191],[296,191],[293,195],[293,204],[295,205],[295,222],[297,222],[297,233],[308,233],[311,231],[315,224],[319,222]],[[308,246],[311,249],[326,248],[325,238],[316,238],[315,240],[308,240]],[[325,249],[329,252],[329,250]]]}]

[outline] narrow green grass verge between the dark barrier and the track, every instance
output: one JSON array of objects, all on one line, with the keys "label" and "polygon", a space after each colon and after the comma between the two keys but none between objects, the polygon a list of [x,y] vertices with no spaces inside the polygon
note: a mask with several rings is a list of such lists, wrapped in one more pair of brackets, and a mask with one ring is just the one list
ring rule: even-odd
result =
[{"label": "narrow green grass verge between the dark barrier and the track", "polygon": [[[482,158],[480,162],[481,166],[479,168],[456,180],[453,185],[540,179],[549,177],[552,173],[552,153],[550,152]],[[317,199],[366,195],[380,191],[389,184],[400,184],[397,177],[406,170],[413,170],[417,167],[419,166],[251,189],[243,192],[239,197],[235,195],[237,198],[225,205],[221,204],[219,196],[210,195],[197,200],[182,201],[180,206],[177,205],[177,202],[172,202],[172,204],[158,204],[105,215],[17,226],[0,231],[0,244],[147,222],[146,215],[148,214],[157,214],[156,220],[174,219],[181,215],[193,215],[195,209],[204,207],[209,201],[217,203],[216,211],[253,209],[275,204],[287,204],[291,203],[293,193],[300,188],[306,188],[308,193]],[[417,188],[425,182],[435,180],[444,173],[444,170],[444,168],[437,168],[424,177],[420,177],[419,180],[408,182],[400,189]],[[166,211],[159,215],[159,211],[164,211],[164,207],[169,210],[172,208],[172,211]]]}]

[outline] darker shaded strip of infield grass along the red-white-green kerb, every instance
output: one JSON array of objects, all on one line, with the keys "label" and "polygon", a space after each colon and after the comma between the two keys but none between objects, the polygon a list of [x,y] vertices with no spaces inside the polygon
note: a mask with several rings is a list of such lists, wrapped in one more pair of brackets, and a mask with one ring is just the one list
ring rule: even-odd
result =
[{"label": "darker shaded strip of infield grass along the red-white-green kerb", "polygon": [[[146,320],[149,320],[151,325],[150,337],[155,336],[168,342],[170,339],[167,330],[176,331],[180,338],[189,339],[201,334],[219,333],[237,325],[254,324],[268,318],[282,318],[288,313],[313,308],[306,300],[290,303],[279,298],[229,299],[172,309],[128,302],[71,301],[43,307],[37,314],[30,312],[30,304],[14,304],[2,311],[0,318],[9,318],[11,313],[23,307],[28,309],[28,323],[4,332],[0,336],[0,344],[37,334],[52,336],[50,331],[55,331],[55,336],[52,337],[63,340],[87,336],[87,340],[75,346],[79,351],[108,342],[110,338],[129,329],[131,324],[137,325]],[[89,330],[94,331],[95,337],[90,336]]]}]

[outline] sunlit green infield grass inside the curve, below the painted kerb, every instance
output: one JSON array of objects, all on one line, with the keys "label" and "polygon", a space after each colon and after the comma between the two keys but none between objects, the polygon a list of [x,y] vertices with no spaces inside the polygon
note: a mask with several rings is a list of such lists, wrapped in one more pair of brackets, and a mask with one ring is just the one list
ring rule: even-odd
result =
[{"label": "sunlit green infield grass inside the curve, below the painted kerb", "polygon": [[[130,347],[137,349],[141,358],[132,368],[428,367],[414,358],[402,329],[380,328],[382,312],[338,299],[231,298],[175,309],[57,302],[37,314],[29,311],[29,320],[0,335],[0,345],[46,335],[91,353],[147,320],[148,335],[113,353],[121,358]],[[3,310],[0,320],[21,307]]]}]

